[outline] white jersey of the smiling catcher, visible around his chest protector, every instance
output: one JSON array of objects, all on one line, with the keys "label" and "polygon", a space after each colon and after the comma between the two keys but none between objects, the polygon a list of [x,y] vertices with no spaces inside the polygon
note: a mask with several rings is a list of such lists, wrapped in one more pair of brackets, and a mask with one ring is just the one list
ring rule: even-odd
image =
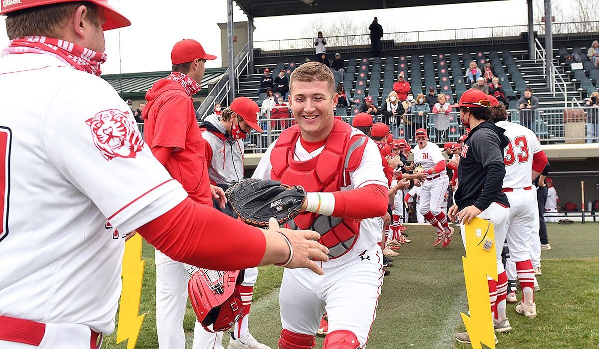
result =
[{"label": "white jersey of the smiling catcher, visible around his chest protector", "polygon": [[[358,134],[363,133],[357,129],[352,129],[351,136]],[[270,154],[276,143],[277,141],[274,141],[268,147],[266,153],[264,153],[264,156],[262,156],[260,163],[258,163],[252,178],[270,180],[270,173],[272,169]],[[308,153],[308,151],[302,147],[298,138],[298,141],[295,144],[294,157],[297,161],[306,161],[320,154],[323,149],[324,145],[313,152]],[[388,187],[387,178],[383,173],[383,165],[380,160],[379,148],[372,139],[368,139],[367,145],[364,148],[362,162],[358,168],[355,169],[355,171],[350,172],[350,178],[351,184],[347,187],[341,188],[341,190],[355,189],[354,184],[358,184],[358,187],[364,187],[368,184],[380,184],[382,186]],[[356,187],[356,189],[358,187]],[[373,245],[376,245],[377,241],[380,240],[380,236],[381,230],[377,227],[377,224],[373,220],[362,220],[360,224],[358,241],[356,241],[356,244],[352,247],[352,249],[341,257],[329,260],[328,262],[323,262],[323,266],[326,265],[328,268],[330,268],[333,265],[341,265],[346,260],[350,260],[357,254],[362,253],[362,251],[370,250],[370,248],[372,248]]]}]

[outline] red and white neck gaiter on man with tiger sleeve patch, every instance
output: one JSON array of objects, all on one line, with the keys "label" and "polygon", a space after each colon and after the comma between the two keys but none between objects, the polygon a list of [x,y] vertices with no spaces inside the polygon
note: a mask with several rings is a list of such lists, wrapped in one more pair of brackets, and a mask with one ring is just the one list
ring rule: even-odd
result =
[{"label": "red and white neck gaiter on man with tiger sleeve patch", "polygon": [[106,54],[99,53],[68,41],[49,37],[25,37],[11,40],[2,50],[2,56],[16,53],[42,53],[57,57],[73,68],[100,76],[100,65],[106,62]]}]

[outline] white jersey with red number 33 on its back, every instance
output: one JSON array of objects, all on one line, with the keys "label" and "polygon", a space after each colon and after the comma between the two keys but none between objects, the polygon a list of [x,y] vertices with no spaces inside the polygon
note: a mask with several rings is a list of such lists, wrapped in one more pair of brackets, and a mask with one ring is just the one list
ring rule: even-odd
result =
[{"label": "white jersey with red number 33 on its back", "polygon": [[495,123],[506,130],[503,134],[510,139],[504,149],[506,177],[503,178],[504,188],[530,187],[533,173],[533,154],[542,151],[539,139],[530,129],[509,121]]}]

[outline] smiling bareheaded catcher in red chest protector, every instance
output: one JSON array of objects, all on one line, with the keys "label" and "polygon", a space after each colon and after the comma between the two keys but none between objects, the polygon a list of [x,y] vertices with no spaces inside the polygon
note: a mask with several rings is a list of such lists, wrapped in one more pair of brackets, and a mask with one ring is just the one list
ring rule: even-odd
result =
[{"label": "smiling bareheaded catcher in red chest protector", "polygon": [[382,286],[381,229],[374,220],[388,208],[388,181],[377,145],[333,117],[337,105],[331,70],[304,63],[290,79],[291,109],[298,125],[281,133],[253,177],[299,184],[306,211],[288,223],[321,233],[329,246],[324,277],[285,272],[279,293],[280,349],[313,348],[322,314],[328,314],[323,348],[363,348]]}]

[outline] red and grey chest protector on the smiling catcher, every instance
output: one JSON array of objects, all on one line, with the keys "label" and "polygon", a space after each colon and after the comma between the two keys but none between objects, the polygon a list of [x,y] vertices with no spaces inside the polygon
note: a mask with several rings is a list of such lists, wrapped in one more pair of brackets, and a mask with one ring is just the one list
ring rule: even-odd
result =
[{"label": "red and grey chest protector on the smiling catcher", "polygon": [[[307,192],[337,192],[348,186],[349,172],[360,165],[368,141],[365,135],[350,137],[351,132],[349,124],[334,120],[322,152],[313,159],[297,161],[294,148],[299,138],[299,126],[286,129],[277,139],[270,156],[273,166],[271,179],[290,186],[298,184]],[[329,259],[335,259],[355,244],[360,220],[304,212],[289,221],[286,227],[320,233],[320,244],[329,248]]]}]

